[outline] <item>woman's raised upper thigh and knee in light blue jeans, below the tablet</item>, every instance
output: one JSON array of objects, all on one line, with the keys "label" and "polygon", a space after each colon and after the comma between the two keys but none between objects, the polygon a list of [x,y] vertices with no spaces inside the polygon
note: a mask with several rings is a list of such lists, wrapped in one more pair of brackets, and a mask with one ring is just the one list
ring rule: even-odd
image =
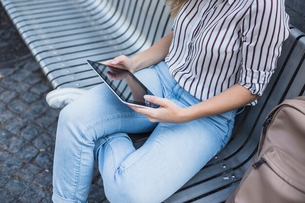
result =
[{"label": "woman's raised upper thigh and knee in light blue jeans, below the tablet", "polygon": [[100,84],[60,111],[58,126],[92,143],[116,132],[152,131],[156,124],[123,104],[105,84]]}]

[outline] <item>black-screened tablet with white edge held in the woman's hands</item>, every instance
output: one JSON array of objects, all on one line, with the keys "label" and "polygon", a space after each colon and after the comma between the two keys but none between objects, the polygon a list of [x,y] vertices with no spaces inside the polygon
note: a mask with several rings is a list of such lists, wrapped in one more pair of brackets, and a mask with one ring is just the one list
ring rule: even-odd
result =
[{"label": "black-screened tablet with white edge held in the woman's hands", "polygon": [[144,99],[144,95],[153,94],[131,72],[91,60],[87,62],[124,104],[144,108],[160,107]]}]

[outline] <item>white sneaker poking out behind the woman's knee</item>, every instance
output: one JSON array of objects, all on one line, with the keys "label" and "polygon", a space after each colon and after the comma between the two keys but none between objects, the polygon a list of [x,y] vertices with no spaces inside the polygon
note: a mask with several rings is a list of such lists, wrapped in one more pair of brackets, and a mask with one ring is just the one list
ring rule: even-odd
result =
[{"label": "white sneaker poking out behind the woman's knee", "polygon": [[85,92],[87,92],[87,90],[79,88],[61,88],[49,92],[46,95],[45,100],[50,107],[63,109]]}]

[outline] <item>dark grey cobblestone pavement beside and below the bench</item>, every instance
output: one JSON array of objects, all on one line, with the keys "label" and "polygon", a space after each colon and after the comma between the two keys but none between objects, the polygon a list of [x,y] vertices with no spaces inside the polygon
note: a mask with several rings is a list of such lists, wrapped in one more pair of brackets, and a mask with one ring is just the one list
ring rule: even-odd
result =
[{"label": "dark grey cobblestone pavement beside and below the bench", "polygon": [[[0,203],[51,203],[59,110],[52,88],[0,7]],[[99,172],[90,203],[108,203]]]}]

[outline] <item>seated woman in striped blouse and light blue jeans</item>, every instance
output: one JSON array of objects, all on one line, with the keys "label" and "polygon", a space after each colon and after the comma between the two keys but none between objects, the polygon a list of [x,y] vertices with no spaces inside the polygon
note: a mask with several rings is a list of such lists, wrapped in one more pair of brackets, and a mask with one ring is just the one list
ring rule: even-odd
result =
[{"label": "seated woman in striped blouse and light blue jeans", "polygon": [[[128,107],[104,84],[59,115],[54,203],[86,203],[94,160],[111,203],[160,203],[228,143],[255,105],[289,35],[284,0],[168,0],[171,33],[105,63],[133,72],[158,109]],[[146,68],[149,67],[149,68]],[[135,150],[126,133],[152,131]]]}]

